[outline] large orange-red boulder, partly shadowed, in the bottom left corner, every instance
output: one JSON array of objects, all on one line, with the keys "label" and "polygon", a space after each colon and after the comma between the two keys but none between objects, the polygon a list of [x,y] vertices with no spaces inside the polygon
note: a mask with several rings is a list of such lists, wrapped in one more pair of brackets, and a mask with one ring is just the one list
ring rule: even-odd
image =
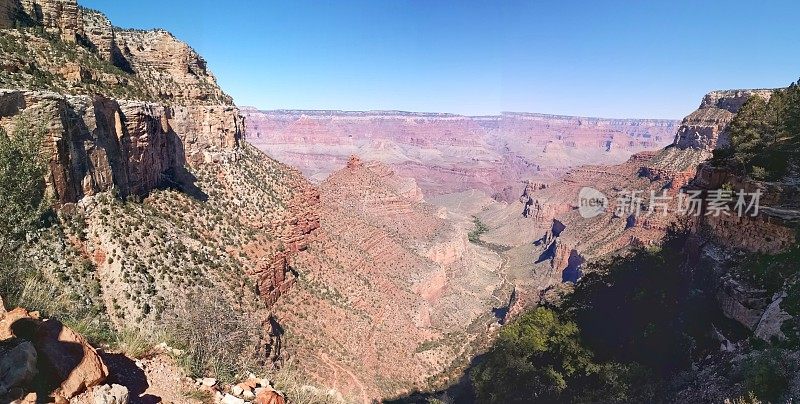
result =
[{"label": "large orange-red boulder, partly shadowed, in the bottom left corner", "polygon": [[108,377],[108,368],[97,351],[57,320],[41,323],[34,344],[48,374],[59,383],[57,395],[70,399]]}]

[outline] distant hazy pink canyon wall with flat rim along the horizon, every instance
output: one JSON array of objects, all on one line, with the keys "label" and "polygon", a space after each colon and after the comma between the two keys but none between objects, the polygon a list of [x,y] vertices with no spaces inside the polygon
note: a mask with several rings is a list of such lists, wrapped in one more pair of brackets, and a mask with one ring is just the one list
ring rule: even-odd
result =
[{"label": "distant hazy pink canyon wall with flat rim along the horizon", "polygon": [[521,113],[243,111],[251,143],[312,179],[358,154],[416,179],[427,195],[516,192],[530,177],[552,178],[567,167],[621,162],[666,146],[677,124]]}]

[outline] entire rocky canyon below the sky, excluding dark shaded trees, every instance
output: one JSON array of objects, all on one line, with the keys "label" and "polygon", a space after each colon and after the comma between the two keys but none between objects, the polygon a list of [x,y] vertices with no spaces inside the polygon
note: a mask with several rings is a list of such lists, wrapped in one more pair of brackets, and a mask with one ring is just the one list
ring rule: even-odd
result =
[{"label": "entire rocky canyon below the sky, excluding dark shaded trees", "polygon": [[[29,300],[42,307],[0,322],[29,318],[57,339],[47,332],[60,323],[35,310],[61,316],[92,361],[75,373],[86,380],[40,394],[89,400],[121,383],[133,402],[238,403],[257,388],[263,402],[372,402],[444,389],[506,324],[569,293],[593,263],[659,248],[675,225],[702,238],[693,257],[718,279],[727,318],[762,340],[794,321],[785,290],[729,273],[740,252],[797,241],[794,186],[710,164],[747,100],[773,90],[711,92],[682,121],[260,111],[237,107],[167,31],[117,28],[74,0],[3,0],[0,14],[0,127],[41,137],[52,208],[15,251],[35,268],[19,300],[43,293]],[[578,206],[587,187],[610,201],[591,218]],[[762,214],[618,210],[629,190],[723,187],[763,191]],[[741,342],[726,332],[720,344]],[[32,367],[48,352],[5,334],[16,356],[0,350],[0,363]],[[119,342],[129,335],[161,348],[136,364]],[[146,389],[125,384],[126,360]],[[280,377],[285,394],[251,371]],[[210,372],[228,379],[206,383]],[[17,388],[2,399],[24,397],[32,377],[0,377]]]}]

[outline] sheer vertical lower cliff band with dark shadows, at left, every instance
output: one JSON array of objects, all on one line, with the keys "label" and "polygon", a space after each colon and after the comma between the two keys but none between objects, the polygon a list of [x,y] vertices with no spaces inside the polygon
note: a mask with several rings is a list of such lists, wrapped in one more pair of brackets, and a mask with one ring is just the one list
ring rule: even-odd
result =
[{"label": "sheer vertical lower cliff band with dark shadows, at left", "polygon": [[[244,122],[230,106],[176,106],[102,96],[0,91],[0,125],[45,132],[49,186],[61,203],[115,188],[123,197],[177,183],[185,166],[233,152]],[[189,185],[189,184],[184,184]]]}]

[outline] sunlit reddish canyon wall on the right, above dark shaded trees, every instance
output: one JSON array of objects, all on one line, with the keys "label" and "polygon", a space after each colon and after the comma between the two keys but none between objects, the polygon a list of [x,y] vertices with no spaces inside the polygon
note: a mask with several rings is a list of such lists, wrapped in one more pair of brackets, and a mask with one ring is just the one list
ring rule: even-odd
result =
[{"label": "sunlit reddish canyon wall on the right, above dark shaded trees", "polygon": [[[792,226],[799,216],[796,202],[792,202],[797,198],[792,186],[748,180],[705,163],[715,148],[723,147],[725,129],[748,97],[767,98],[770,93],[709,93],[683,120],[668,147],[636,153],[623,164],[570,169],[558,181],[529,181],[518,201],[505,206],[488,204],[476,210],[490,228],[481,239],[506,249],[507,271],[519,274],[511,280],[517,298],[536,304],[543,289],[575,281],[576,275],[579,278],[586,270],[583,262],[631,246],[658,245],[673,224],[690,226],[718,251],[778,253],[791,246]],[[606,209],[595,217],[583,217],[578,210],[578,195],[584,187],[596,189],[608,200]],[[761,190],[759,215],[686,217],[678,211],[681,190],[723,187],[750,193]],[[621,204],[632,191],[638,192],[643,203],[638,214],[633,209],[618,209],[625,208]],[[672,198],[666,211],[655,208],[654,214],[647,214],[651,192]]]}]

